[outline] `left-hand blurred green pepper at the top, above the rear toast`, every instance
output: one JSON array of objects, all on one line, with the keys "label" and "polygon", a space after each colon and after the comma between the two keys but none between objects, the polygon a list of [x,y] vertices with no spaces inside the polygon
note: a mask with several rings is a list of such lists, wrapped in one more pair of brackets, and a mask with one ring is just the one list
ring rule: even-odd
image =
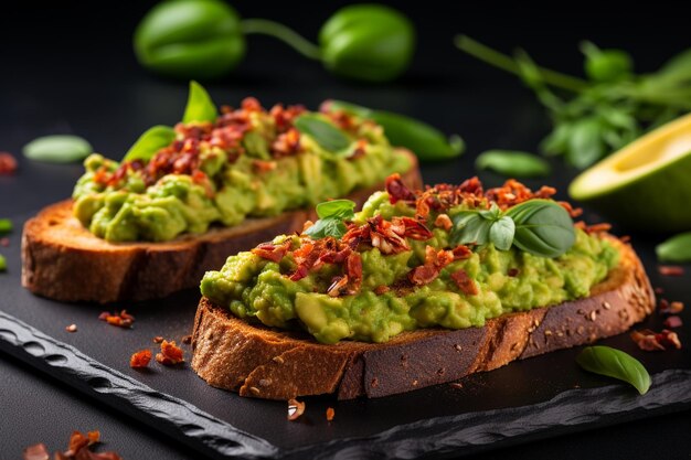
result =
[{"label": "left-hand blurred green pepper at the top, above the rear toast", "polygon": [[151,9],[135,31],[147,68],[179,78],[216,78],[245,55],[240,17],[221,0],[170,0]]}]

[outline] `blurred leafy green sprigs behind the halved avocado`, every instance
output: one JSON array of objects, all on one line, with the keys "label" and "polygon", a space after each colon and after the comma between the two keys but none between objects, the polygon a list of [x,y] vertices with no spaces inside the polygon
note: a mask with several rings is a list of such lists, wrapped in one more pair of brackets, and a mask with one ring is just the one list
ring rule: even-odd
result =
[{"label": "blurred leafy green sprigs behind the halved avocado", "polygon": [[455,43],[461,51],[518,75],[535,93],[553,125],[541,143],[543,153],[563,156],[580,169],[691,110],[691,50],[656,73],[637,75],[626,52],[584,42],[584,79],[541,67],[520,49],[509,56],[465,35]]}]

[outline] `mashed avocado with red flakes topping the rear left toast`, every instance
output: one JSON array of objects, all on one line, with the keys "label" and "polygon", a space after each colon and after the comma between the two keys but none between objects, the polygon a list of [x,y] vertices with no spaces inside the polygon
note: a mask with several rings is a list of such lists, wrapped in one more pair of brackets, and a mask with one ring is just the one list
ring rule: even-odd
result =
[{"label": "mashed avocado with red flakes topping the rear left toast", "polygon": [[74,189],[74,214],[109,242],[162,242],[313,206],[412,167],[372,121],[315,114],[348,140],[331,151],[296,128],[305,114],[299,106],[264,110],[248,98],[213,122],[178,124],[172,143],[149,161],[92,154]]}]

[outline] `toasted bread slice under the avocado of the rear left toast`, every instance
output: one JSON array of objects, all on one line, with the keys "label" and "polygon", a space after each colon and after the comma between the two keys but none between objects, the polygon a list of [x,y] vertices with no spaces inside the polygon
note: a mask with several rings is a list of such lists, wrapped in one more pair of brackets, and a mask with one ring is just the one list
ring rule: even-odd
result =
[{"label": "toasted bread slice under the avocado of the rear left toast", "polygon": [[[422,186],[417,160],[411,159],[403,180]],[[383,182],[348,197],[361,205]],[[313,210],[276,217],[248,218],[234,227],[213,227],[203,235],[183,235],[164,243],[108,243],[94,236],[72,214],[72,200],[45,207],[26,221],[22,235],[22,285],[62,301],[108,303],[166,297],[199,286],[206,270],[222,266],[228,255],[249,250],[276,235],[302,229],[316,218]]]}]

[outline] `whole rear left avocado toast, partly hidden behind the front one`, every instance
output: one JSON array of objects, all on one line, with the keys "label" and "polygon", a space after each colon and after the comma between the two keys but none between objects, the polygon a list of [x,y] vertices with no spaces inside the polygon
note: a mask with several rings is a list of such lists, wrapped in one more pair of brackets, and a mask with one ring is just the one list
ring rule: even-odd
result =
[{"label": "whole rear left avocado toast, partly hidden behind the front one", "polygon": [[24,226],[24,287],[63,301],[164,297],[196,286],[230,253],[301,229],[320,201],[362,203],[393,172],[421,183],[415,157],[370,120],[301,106],[266,110],[254,98],[217,114],[204,97],[203,110],[191,110],[202,119],[140,138],[140,147],[163,138],[150,154],[86,159],[72,200]]}]

